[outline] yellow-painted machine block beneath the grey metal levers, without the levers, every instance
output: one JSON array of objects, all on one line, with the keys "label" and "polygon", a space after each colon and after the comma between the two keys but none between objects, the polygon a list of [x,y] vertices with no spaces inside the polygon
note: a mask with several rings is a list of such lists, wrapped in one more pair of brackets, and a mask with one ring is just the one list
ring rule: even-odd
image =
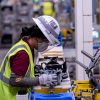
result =
[{"label": "yellow-painted machine block beneath the grey metal levers, without the levers", "polygon": [[[93,89],[94,89],[94,87],[89,83],[89,80],[74,81],[73,92],[75,94],[75,97],[80,96],[80,91],[83,91],[81,93],[81,96],[83,97],[81,100],[92,100]],[[84,99],[84,97],[88,97],[88,98]],[[100,93],[97,93],[95,95],[94,100],[100,100]]]}]

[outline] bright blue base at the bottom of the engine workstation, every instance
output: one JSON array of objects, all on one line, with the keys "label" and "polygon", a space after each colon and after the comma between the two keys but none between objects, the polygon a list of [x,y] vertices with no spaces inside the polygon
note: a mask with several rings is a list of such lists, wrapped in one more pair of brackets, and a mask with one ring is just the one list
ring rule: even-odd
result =
[{"label": "bright blue base at the bottom of the engine workstation", "polygon": [[58,93],[58,94],[41,94],[31,92],[29,100],[75,100],[73,92]]}]

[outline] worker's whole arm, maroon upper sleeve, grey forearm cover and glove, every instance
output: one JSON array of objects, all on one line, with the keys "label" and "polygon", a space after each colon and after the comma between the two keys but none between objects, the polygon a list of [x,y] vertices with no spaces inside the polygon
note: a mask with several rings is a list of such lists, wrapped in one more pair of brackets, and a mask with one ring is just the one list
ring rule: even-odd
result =
[{"label": "worker's whole arm, maroon upper sleeve, grey forearm cover and glove", "polygon": [[25,51],[18,52],[10,59],[11,71],[14,73],[10,77],[10,85],[17,87],[32,87],[37,85],[46,85],[48,82],[54,82],[54,75],[41,75],[40,77],[25,78],[29,66],[29,56]]}]

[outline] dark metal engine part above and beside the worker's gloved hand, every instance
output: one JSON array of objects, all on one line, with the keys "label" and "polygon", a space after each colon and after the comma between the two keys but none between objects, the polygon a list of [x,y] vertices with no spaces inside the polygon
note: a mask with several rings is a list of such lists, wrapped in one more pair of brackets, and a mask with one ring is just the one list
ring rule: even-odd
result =
[{"label": "dark metal engine part above and beside the worker's gloved hand", "polygon": [[56,74],[58,76],[57,85],[68,78],[66,62],[62,58],[58,57],[45,57],[39,59],[35,66],[35,75],[39,76],[41,74]]}]

